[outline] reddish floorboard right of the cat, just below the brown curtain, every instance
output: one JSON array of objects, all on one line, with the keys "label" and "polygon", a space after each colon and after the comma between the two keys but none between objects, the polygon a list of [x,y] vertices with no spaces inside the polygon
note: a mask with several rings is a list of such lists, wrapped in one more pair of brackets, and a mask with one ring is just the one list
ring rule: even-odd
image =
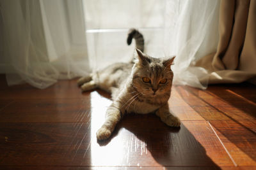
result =
[{"label": "reddish floorboard right of the cat, just below the brown curtain", "polygon": [[[205,120],[251,120],[256,118],[256,99],[230,94],[230,89],[220,89],[218,96],[212,90],[177,87],[180,96]],[[255,91],[251,89],[252,92]],[[229,98],[227,96],[230,96]]]}]

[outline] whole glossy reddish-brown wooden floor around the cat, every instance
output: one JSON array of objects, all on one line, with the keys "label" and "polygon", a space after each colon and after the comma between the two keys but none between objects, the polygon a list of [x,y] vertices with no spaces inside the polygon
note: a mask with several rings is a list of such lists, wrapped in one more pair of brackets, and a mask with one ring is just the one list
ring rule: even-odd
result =
[{"label": "whole glossy reddish-brown wooden floor around the cat", "polygon": [[39,90],[0,76],[0,169],[256,169],[256,87],[173,87],[180,128],[129,115],[112,138],[95,132],[111,103],[76,80]]}]

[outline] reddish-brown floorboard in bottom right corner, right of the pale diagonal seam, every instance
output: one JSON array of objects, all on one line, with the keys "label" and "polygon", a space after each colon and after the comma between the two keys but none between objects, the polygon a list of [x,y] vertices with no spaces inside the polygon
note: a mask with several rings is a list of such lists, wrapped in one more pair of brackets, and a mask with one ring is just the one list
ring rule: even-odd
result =
[{"label": "reddish-brown floorboard in bottom right corner, right of the pale diagonal seam", "polygon": [[256,120],[211,120],[237,166],[256,166]]}]

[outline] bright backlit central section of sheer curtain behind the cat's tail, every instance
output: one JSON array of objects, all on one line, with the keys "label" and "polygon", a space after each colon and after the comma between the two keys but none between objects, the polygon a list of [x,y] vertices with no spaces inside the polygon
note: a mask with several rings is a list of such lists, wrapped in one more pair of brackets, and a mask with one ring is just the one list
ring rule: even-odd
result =
[{"label": "bright backlit central section of sheer curtain behind the cat's tail", "polygon": [[128,61],[134,45],[126,43],[131,27],[145,37],[145,51],[163,56],[164,0],[85,0],[88,55],[93,69]]}]

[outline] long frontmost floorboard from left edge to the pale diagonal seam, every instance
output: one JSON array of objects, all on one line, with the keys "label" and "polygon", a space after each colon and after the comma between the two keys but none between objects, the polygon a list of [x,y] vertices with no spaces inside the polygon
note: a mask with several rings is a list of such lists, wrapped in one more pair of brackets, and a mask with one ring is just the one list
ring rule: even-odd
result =
[{"label": "long frontmost floorboard from left edge to the pale diagonal seam", "polygon": [[[185,122],[176,129],[152,117],[127,117],[113,138],[100,145],[90,122],[1,123],[0,165],[232,166],[211,129],[202,128],[202,124],[207,125],[205,122]],[[202,134],[204,137],[199,137]]]}]

